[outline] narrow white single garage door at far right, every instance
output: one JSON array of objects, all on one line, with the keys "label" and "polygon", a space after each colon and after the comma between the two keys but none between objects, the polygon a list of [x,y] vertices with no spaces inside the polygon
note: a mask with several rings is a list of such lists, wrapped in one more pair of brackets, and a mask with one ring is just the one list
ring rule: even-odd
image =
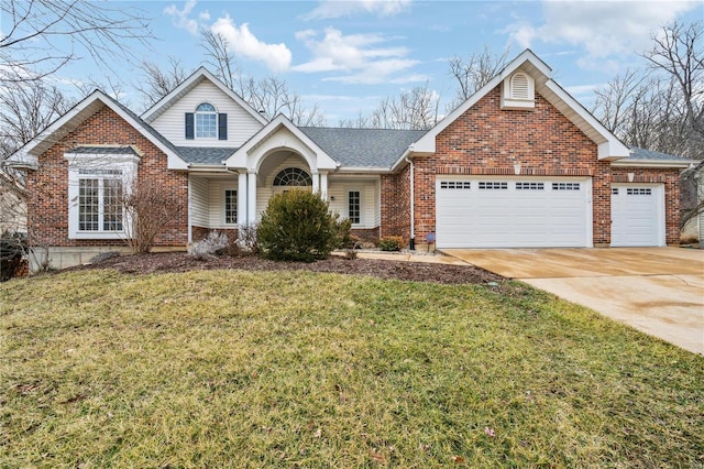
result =
[{"label": "narrow white single garage door at far right", "polygon": [[612,186],[612,246],[664,246],[662,185]]}]

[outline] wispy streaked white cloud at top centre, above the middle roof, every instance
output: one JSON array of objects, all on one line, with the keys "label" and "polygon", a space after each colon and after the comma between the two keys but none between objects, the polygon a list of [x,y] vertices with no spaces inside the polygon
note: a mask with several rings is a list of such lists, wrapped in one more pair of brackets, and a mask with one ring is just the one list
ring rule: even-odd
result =
[{"label": "wispy streaked white cloud at top centre, above the middle roof", "polygon": [[293,67],[296,72],[323,73],[344,72],[346,76],[329,77],[326,80],[343,83],[410,83],[427,79],[426,76],[398,76],[419,61],[407,58],[406,47],[386,47],[387,40],[381,34],[343,35],[333,28],[324,30],[318,39],[312,30],[299,31],[296,37],[312,52],[312,59]]}]

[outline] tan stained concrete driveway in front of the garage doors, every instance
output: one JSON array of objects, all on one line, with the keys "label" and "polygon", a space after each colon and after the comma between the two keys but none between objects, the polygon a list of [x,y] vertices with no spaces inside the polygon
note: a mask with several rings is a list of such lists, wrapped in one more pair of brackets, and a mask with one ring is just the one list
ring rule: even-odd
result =
[{"label": "tan stained concrete driveway in front of the garage doors", "polygon": [[704,250],[448,249],[683,349],[704,353]]}]

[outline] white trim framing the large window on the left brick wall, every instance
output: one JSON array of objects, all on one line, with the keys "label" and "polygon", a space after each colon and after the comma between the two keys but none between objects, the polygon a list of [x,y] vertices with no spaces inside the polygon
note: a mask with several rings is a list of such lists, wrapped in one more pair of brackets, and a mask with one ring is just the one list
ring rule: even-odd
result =
[{"label": "white trim framing the large window on the left brick wall", "polygon": [[136,155],[116,155],[108,153],[65,153],[68,161],[68,239],[125,239],[132,231],[132,220],[123,214],[122,229],[114,231],[81,231],[78,229],[78,195],[80,170],[117,170],[122,172],[123,194],[129,194],[136,177]]}]

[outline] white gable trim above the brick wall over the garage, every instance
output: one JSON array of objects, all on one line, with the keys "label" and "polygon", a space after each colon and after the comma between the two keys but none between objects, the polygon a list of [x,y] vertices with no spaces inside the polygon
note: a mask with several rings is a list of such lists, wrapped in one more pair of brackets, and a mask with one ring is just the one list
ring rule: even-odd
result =
[{"label": "white gable trim above the brick wall over the garage", "polygon": [[[436,127],[430,129],[415,145],[411,153],[429,154],[436,151],[436,137],[472,106],[479,102],[486,94],[496,88],[502,81],[514,72],[521,69],[530,75],[536,81],[536,92],[539,92],[560,112],[562,112],[572,123],[574,123],[586,137],[588,137],[598,148],[600,160],[617,160],[628,156],[628,149],[612,132],[609,132],[594,116],[592,116],[582,105],[572,98],[562,87],[550,77],[552,69],[542,62],[530,50],[524,51],[514,58],[504,69],[490,83],[480,88],[468,100],[444,117]],[[409,153],[409,154],[411,154]],[[402,155],[394,166],[403,164]]]}]

